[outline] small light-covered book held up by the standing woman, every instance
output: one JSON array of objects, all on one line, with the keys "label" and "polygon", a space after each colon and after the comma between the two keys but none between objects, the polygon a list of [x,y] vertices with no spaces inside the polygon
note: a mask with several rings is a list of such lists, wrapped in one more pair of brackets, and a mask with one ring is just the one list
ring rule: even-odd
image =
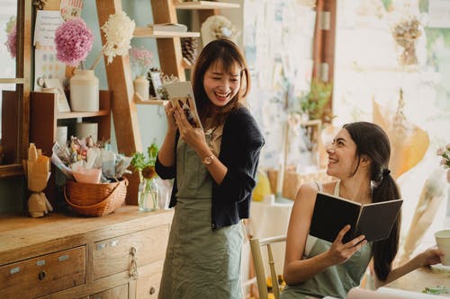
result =
[{"label": "small light-covered book held up by the standing woman", "polygon": [[197,113],[197,107],[195,106],[191,83],[189,81],[174,82],[165,84],[163,87],[166,89],[168,99],[172,103],[172,106],[183,109],[184,116],[193,128],[203,129],[202,122]]}]

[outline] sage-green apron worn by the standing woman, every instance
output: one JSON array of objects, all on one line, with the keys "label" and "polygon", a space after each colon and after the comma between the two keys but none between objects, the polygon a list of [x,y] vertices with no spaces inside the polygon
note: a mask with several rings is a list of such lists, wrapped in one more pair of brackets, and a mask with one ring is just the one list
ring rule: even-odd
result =
[{"label": "sage-green apron worn by the standing woman", "polygon": [[212,231],[211,175],[182,139],[176,153],[177,203],[158,298],[242,299],[242,223]]}]

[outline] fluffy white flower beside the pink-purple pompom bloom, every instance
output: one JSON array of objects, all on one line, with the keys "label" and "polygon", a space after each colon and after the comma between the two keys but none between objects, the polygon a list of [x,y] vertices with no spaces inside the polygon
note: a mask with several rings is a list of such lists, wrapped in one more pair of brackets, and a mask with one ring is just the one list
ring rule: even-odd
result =
[{"label": "fluffy white flower beside the pink-purple pompom bloom", "polygon": [[135,22],[122,11],[111,14],[103,24],[102,31],[106,37],[103,54],[108,57],[108,64],[112,63],[116,56],[128,55],[135,27]]}]

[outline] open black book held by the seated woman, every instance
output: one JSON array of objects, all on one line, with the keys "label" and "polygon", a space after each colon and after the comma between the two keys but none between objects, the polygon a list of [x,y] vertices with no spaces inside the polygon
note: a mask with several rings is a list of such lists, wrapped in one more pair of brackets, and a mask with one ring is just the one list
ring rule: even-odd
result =
[{"label": "open black book held by the seated woman", "polygon": [[318,192],[312,213],[310,234],[334,242],[347,224],[350,230],[342,242],[364,234],[367,242],[386,239],[399,215],[403,199],[362,205],[346,198]]}]

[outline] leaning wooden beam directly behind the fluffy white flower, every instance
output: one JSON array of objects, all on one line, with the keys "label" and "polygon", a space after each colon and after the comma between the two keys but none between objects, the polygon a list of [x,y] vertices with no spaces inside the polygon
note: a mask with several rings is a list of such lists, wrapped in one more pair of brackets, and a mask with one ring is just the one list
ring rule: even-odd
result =
[{"label": "leaning wooden beam directly behind the fluffy white flower", "polygon": [[[97,0],[98,22],[100,27],[108,21],[110,14],[120,12],[121,0]],[[102,44],[106,39],[102,35]],[[133,85],[131,79],[130,58],[114,57],[111,64],[106,66],[106,77],[108,89],[112,92],[112,120],[114,122],[117,148],[121,154],[130,156],[142,151],[139,134],[139,122],[136,104],[133,101]],[[128,205],[138,204],[139,174],[133,172],[129,177],[126,203]]]}]

